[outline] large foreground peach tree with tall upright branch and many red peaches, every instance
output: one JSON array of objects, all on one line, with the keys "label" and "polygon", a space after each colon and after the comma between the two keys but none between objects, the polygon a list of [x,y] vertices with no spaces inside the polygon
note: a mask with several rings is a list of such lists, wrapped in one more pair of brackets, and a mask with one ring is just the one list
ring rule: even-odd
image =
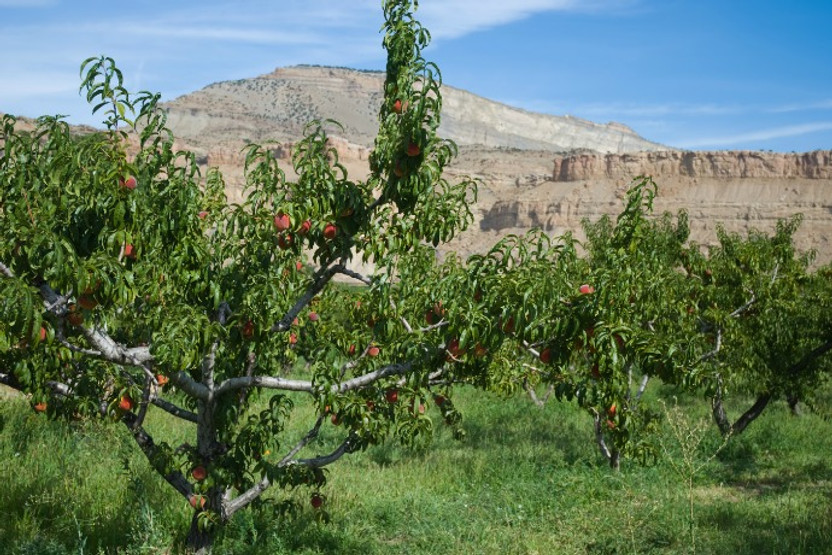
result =
[{"label": "large foreground peach tree with tall upright branch and many red peaches", "polygon": [[[472,221],[476,186],[443,178],[455,147],[437,136],[441,77],[413,4],[383,2],[388,62],[364,181],[328,141],[336,124],[313,122],[292,153],[296,180],[251,145],[245,200],[228,204],[221,174],[175,148],[159,96],[131,94],[107,57],[81,68],[106,130],[2,120],[0,383],[51,416],[126,426],[193,507],[191,548],[210,551],[273,486],[310,488],[320,508],[323,469],[343,455],[391,434],[424,443],[434,397],[458,419],[450,391],[434,391],[454,381],[434,333],[447,321],[413,314],[432,306],[434,247]],[[151,411],[192,440],[154,438]],[[320,443],[324,426],[340,440]]]}]

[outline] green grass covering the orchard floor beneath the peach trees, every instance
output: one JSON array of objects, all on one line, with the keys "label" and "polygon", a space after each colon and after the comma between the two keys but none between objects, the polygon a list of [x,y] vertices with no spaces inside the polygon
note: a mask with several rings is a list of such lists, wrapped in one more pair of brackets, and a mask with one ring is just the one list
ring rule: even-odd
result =
[{"label": "green grass covering the orchard floor beneath the peach trees", "polygon": [[[666,460],[624,461],[614,474],[574,406],[460,393],[465,439],[439,425],[425,451],[388,444],[345,457],[329,472],[325,515],[307,490],[274,492],[299,509],[239,513],[215,552],[691,551],[687,484]],[[679,406],[691,422],[708,415],[699,399]],[[149,427],[160,424],[169,441],[181,434],[166,421]],[[710,425],[697,457],[720,443]],[[695,477],[696,552],[832,552],[830,454],[832,423],[773,404]],[[22,400],[0,401],[0,476],[0,552],[178,552],[190,519],[123,427],[50,422]]]}]

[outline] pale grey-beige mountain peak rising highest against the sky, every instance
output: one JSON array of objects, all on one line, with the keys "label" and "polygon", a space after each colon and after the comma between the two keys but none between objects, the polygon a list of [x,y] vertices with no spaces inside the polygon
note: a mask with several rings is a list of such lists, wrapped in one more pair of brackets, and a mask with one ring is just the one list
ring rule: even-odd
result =
[{"label": "pale grey-beige mountain peak rising highest against the sky", "polygon": [[[215,83],[165,107],[177,137],[195,146],[222,141],[295,141],[313,119],[334,119],[340,134],[371,147],[378,131],[384,74],[297,66],[253,79]],[[621,124],[527,112],[443,85],[440,134],[460,145],[566,152],[665,149]]]}]

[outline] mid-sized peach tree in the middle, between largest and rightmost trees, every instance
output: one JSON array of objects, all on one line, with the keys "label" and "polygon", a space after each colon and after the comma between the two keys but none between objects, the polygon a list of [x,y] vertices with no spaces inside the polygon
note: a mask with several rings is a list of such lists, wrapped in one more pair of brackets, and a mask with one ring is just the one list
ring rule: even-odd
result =
[{"label": "mid-sized peach tree in the middle, between largest and rightmost trees", "polygon": [[484,272],[500,275],[492,281],[507,301],[500,315],[504,360],[492,380],[522,386],[537,404],[553,395],[575,401],[613,469],[622,454],[642,462],[654,457],[649,431],[657,413],[645,403],[645,388],[653,378],[689,381],[701,341],[687,334],[695,315],[679,295],[687,216],[653,218],[656,190],[650,178],[637,178],[615,221],[585,221],[583,255],[570,235],[548,250],[527,237],[516,241],[515,260],[492,253],[487,264],[497,269]]}]

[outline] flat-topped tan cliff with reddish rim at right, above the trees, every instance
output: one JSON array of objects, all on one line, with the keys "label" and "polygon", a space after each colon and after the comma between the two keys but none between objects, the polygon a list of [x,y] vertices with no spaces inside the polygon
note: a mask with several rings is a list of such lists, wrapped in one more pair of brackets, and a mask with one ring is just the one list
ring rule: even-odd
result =
[{"label": "flat-topped tan cliff with reddish rim at right, above the trees", "polygon": [[798,248],[815,249],[818,263],[832,261],[832,151],[556,156],[548,181],[500,195],[483,213],[480,229],[494,235],[533,227],[552,234],[580,230],[584,219],[616,215],[640,175],[658,185],[655,213],[686,210],[692,239],[700,244],[715,243],[717,226],[740,234],[770,232],[778,219],[799,213]]}]

